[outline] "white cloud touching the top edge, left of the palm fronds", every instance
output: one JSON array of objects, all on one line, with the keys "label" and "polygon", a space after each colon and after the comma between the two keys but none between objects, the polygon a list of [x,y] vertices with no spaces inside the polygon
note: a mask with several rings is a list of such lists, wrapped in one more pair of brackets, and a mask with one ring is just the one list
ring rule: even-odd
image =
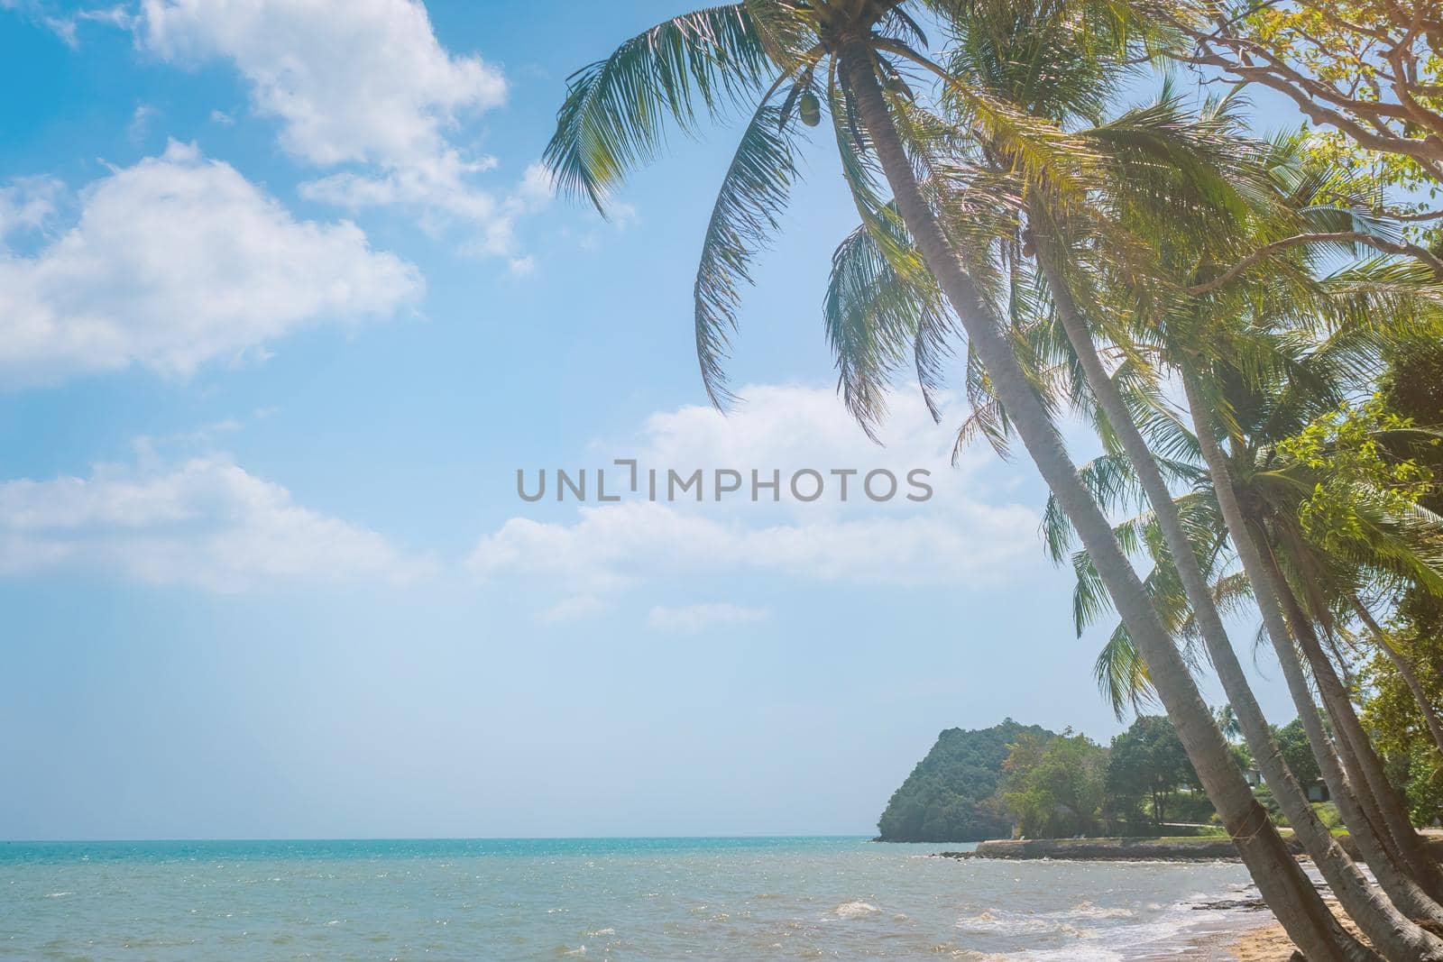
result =
[{"label": "white cloud touching the top edge, left of the palm fronds", "polygon": [[469,248],[514,255],[534,175],[498,196],[476,186],[496,159],[456,143],[463,118],[505,100],[506,81],[479,56],[447,52],[417,0],[144,0],[136,35],[166,61],[232,62],[289,153],[348,166],[302,185],[307,199],[459,218],[478,232]]}]

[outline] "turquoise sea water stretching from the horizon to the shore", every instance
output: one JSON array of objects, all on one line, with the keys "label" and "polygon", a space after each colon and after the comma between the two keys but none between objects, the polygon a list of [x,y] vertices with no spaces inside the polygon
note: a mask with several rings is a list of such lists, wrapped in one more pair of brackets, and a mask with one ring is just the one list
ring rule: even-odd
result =
[{"label": "turquoise sea water stretching from the horizon to the shore", "polygon": [[[1141,959],[1257,916],[1232,864],[860,838],[0,844],[13,959]],[[1189,955],[1188,958],[1196,958]]]}]

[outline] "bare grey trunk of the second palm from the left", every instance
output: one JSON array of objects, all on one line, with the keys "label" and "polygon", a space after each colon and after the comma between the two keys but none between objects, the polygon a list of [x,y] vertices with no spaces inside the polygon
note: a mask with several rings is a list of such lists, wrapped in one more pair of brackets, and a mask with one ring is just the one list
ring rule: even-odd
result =
[{"label": "bare grey trunk of the second palm from the left", "polygon": [[[1039,235],[1038,219],[1032,221],[1033,235]],[[1237,652],[1228,639],[1222,617],[1214,603],[1208,581],[1198,565],[1192,542],[1182,526],[1182,516],[1173,502],[1167,482],[1163,479],[1157,463],[1153,460],[1147,440],[1137,428],[1127,404],[1113,378],[1108,376],[1098,356],[1097,345],[1092,342],[1087,322],[1078,310],[1068,286],[1066,274],[1058,257],[1058,239],[1053,237],[1038,237],[1038,264],[1042,268],[1048,287],[1052,291],[1052,303],[1058,309],[1058,317],[1072,343],[1082,365],[1088,387],[1102,407],[1113,431],[1117,434],[1127,453],[1133,469],[1137,472],[1143,490],[1152,503],[1153,515],[1163,531],[1167,551],[1173,565],[1177,568],[1179,580],[1188,594],[1198,627],[1202,632],[1203,645],[1212,661],[1214,671],[1222,689],[1237,712],[1242,737],[1253,751],[1253,759],[1263,772],[1273,796],[1277,799],[1289,824],[1303,842],[1304,851],[1317,865],[1329,887],[1338,896],[1349,916],[1358,922],[1359,929],[1372,945],[1388,959],[1421,959],[1429,952],[1443,956],[1443,940],[1420,929],[1405,916],[1398,913],[1392,904],[1380,897],[1377,890],[1368,883],[1358,865],[1348,857],[1342,845],[1333,838],[1328,826],[1322,824],[1307,796],[1297,785],[1297,779],[1289,770],[1278,750],[1277,738],[1263,715],[1263,710],[1253,695],[1242,665],[1238,663]],[[1443,917],[1443,916],[1440,916]]]}]

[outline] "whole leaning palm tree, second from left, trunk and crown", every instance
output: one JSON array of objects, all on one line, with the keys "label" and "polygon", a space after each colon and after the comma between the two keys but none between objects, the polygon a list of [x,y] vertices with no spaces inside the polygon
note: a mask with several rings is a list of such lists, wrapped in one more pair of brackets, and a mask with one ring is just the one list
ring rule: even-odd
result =
[{"label": "whole leaning palm tree, second from left, trunk and crown", "polygon": [[[987,7],[977,4],[975,9]],[[1078,63],[1079,58],[1074,55],[1069,59],[1069,48],[1065,37],[1061,37],[1062,25],[1056,20],[1049,20],[1046,16],[1025,19],[1012,4],[1004,4],[1000,12],[988,12],[1001,16],[984,19],[974,13],[961,25],[958,52],[948,66],[951,76],[967,85],[973,97],[980,89],[987,91],[994,97],[991,102],[1006,104],[1027,115],[1042,115],[1058,123],[1074,115],[1097,124],[1095,112],[1105,100],[1100,89],[1105,88],[1110,79],[1107,66],[1092,69],[1089,74],[1087,63]],[[1069,81],[1062,89],[1049,82],[1059,75]],[[1048,81],[1039,82],[1036,78]],[[975,118],[975,111],[968,104],[955,105],[954,112],[964,120]],[[1130,111],[1110,124],[1071,133],[1072,141],[1079,147],[1078,156],[1094,160],[1079,173],[1110,177],[1105,182],[1094,180],[1091,185],[1094,189],[1087,192],[1082,203],[1078,203],[1072,198],[1061,196],[1062,192],[1056,185],[1069,180],[1075,183],[1082,176],[1059,176],[1058,163],[1029,167],[1025,151],[1030,144],[996,137],[986,127],[974,131],[973,138],[977,141],[968,151],[973,179],[977,179],[975,172],[980,167],[986,183],[1012,185],[1010,193],[1026,199],[1019,203],[1019,211],[1026,218],[1026,228],[1023,229],[1019,218],[1016,231],[1020,237],[1010,250],[1006,245],[1003,248],[1010,255],[1013,274],[1020,270],[1019,254],[1026,254],[1030,248],[1040,267],[1040,294],[1051,297],[1059,326],[1072,348],[1069,361],[1081,369],[1079,387],[1089,389],[1095,397],[1104,438],[1114,440],[1126,451],[1124,457],[1131,462],[1153,505],[1154,525],[1162,532],[1167,551],[1176,558],[1175,564],[1159,571],[1170,573],[1180,581],[1185,603],[1190,603],[1192,607],[1193,626],[1206,643],[1229,701],[1238,707],[1241,728],[1277,799],[1294,824],[1299,838],[1304,841],[1307,851],[1322,867],[1351,914],[1387,955],[1408,959],[1443,956],[1443,942],[1411,925],[1374,893],[1368,880],[1319,821],[1302,787],[1287,770],[1271,728],[1253,697],[1222,627],[1206,578],[1195,557],[1196,548],[1173,505],[1170,489],[1149,441],[1134,420],[1136,405],[1124,400],[1123,389],[1114,382],[1115,375],[1105,369],[1092,342],[1091,325],[1074,297],[1076,287],[1085,284],[1085,278],[1074,277],[1081,264],[1091,262],[1097,273],[1121,270],[1131,278],[1136,277],[1140,262],[1149,260],[1141,238],[1120,229],[1117,218],[1105,211],[1107,205],[1114,209],[1143,206],[1149,212],[1159,206],[1179,208],[1186,212],[1186,221],[1179,226],[1198,237],[1199,221],[1202,228],[1209,226],[1205,212],[1209,205],[1218,206],[1219,195],[1224,202],[1245,206],[1240,189],[1228,180],[1229,173],[1260,180],[1260,173],[1266,170],[1261,164],[1257,164],[1257,172],[1240,170],[1240,166],[1228,157],[1245,159],[1260,151],[1235,136],[1229,137],[1227,117],[1218,111],[1203,123],[1186,124],[1176,101],[1165,94],[1163,100],[1150,108]],[[1160,175],[1163,177],[1159,182]],[[1247,186],[1257,193],[1266,190],[1267,185]],[[1104,198],[1098,196],[1100,190]],[[1227,221],[1227,213],[1218,219]],[[1022,238],[1026,238],[1025,244]],[[1235,237],[1229,239],[1237,241]],[[1219,242],[1216,250],[1225,250],[1225,244]],[[1118,254],[1123,255],[1120,265]],[[968,261],[977,262],[986,255],[986,251],[973,251]],[[1105,260],[1104,264],[1097,264],[1100,255]],[[886,348],[889,340],[895,339],[893,332],[906,332],[916,326],[915,319],[935,313],[938,300],[934,291],[921,290],[890,271],[876,247],[867,242],[863,226],[848,237],[834,257],[833,286],[827,299],[828,327],[843,335],[856,330],[882,332],[882,348]],[[1029,304],[1029,299],[1016,294],[1010,301],[1013,306]],[[1104,312],[1091,313],[1105,316]],[[1127,314],[1127,312],[1120,313]],[[1033,325],[1032,330],[1036,333],[1046,327]],[[1111,340],[1126,349],[1131,336],[1130,332],[1123,332],[1121,336],[1113,333]],[[834,333],[834,345],[846,397],[860,400],[853,401],[854,408],[860,408],[859,414],[870,414],[870,400],[880,394],[874,382],[889,374],[886,362],[899,352],[889,353],[879,349],[874,339],[854,335]],[[1040,366],[1032,365],[1033,381],[1046,381]],[[1006,411],[1006,405],[986,405],[984,410],[994,414],[991,423],[984,420],[974,423],[983,424],[983,430],[996,440],[999,433],[1004,433],[1007,421],[1004,414],[996,412]],[[1114,636],[1114,640],[1118,642],[1118,648],[1126,643],[1127,650],[1136,653],[1130,636]],[[1136,678],[1143,661],[1133,658],[1127,666]],[[1424,917],[1436,912],[1436,919],[1443,922],[1443,910],[1430,907],[1426,896],[1408,894],[1413,897],[1404,904],[1411,914]]]}]

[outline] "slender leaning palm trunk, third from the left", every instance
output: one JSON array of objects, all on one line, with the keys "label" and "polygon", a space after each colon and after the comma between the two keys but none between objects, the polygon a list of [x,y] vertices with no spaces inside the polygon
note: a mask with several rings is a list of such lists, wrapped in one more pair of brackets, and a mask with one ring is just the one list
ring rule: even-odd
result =
[{"label": "slender leaning palm trunk, third from the left", "polygon": [[1273,568],[1267,564],[1248,528],[1242,506],[1238,503],[1237,492],[1232,487],[1232,473],[1228,469],[1227,457],[1212,431],[1212,421],[1198,388],[1196,375],[1189,371],[1183,372],[1183,391],[1188,397],[1188,408],[1192,412],[1198,444],[1212,475],[1218,506],[1222,511],[1222,518],[1228,526],[1228,534],[1232,537],[1238,558],[1242,561],[1242,570],[1253,583],[1258,610],[1263,613],[1263,625],[1273,642],[1278,665],[1283,668],[1283,678],[1287,682],[1289,694],[1293,697],[1293,704],[1297,707],[1303,730],[1307,733],[1307,743],[1317,759],[1323,782],[1333,795],[1338,811],[1342,812],[1343,822],[1346,822],[1354,841],[1358,844],[1358,850],[1392,903],[1411,919],[1443,922],[1443,909],[1407,874],[1404,865],[1398,864],[1394,852],[1385,847],[1381,834],[1374,828],[1374,822],[1358,803],[1352,793],[1352,786],[1338,767],[1338,756],[1333,753],[1332,741],[1323,730],[1317,705],[1313,704],[1313,694],[1307,685],[1307,675],[1303,672],[1303,665],[1293,648],[1287,622],[1278,601],[1278,587],[1273,575]]}]

